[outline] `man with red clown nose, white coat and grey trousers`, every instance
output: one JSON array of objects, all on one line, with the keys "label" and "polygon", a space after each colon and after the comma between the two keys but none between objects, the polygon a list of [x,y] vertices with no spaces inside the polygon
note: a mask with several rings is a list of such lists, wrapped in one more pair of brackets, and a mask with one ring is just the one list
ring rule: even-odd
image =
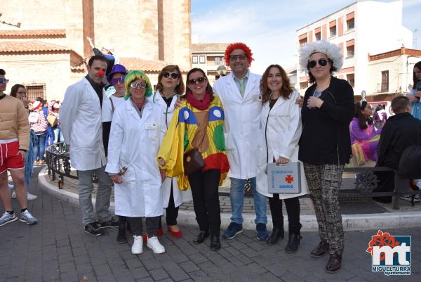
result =
[{"label": "man with red clown nose, white coat and grey trousers", "polygon": [[[105,173],[104,145],[102,143],[102,77],[107,70],[104,56],[93,56],[88,61],[88,75],[70,85],[60,110],[60,127],[70,151],[72,167],[79,177],[79,204],[84,231],[94,236],[104,233],[102,228],[118,227],[118,220],[109,212],[112,181]],[[92,205],[92,177],[98,178],[95,212]]]}]

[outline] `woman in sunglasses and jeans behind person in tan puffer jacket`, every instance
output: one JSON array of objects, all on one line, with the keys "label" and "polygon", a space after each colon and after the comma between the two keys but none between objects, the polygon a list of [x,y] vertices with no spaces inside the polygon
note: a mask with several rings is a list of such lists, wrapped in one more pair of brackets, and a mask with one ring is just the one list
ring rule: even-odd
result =
[{"label": "woman in sunglasses and jeans behind person in tan puffer jacket", "polygon": [[[26,98],[26,88],[22,84],[15,84],[12,86],[11,89],[11,96],[18,98],[23,106],[25,108],[28,108],[28,100]],[[27,111],[28,113],[28,111]],[[34,169],[34,143],[36,141],[37,137],[35,135],[35,132],[31,129],[30,135],[29,135],[29,146],[25,158],[25,187],[27,189],[27,199],[28,200],[35,200],[38,198],[35,195],[32,195],[28,192],[29,188],[29,181],[31,180],[32,175],[32,169]],[[12,192],[12,199],[16,198],[16,191]]]}]

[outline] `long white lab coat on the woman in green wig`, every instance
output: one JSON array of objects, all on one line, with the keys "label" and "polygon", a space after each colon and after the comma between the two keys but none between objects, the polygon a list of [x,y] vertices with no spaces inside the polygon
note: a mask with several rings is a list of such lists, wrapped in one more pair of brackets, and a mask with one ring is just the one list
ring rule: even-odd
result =
[{"label": "long white lab coat on the woman in green wig", "polygon": [[105,171],[118,173],[128,167],[121,184],[114,184],[115,214],[124,217],[159,217],[163,214],[159,144],[165,134],[161,108],[144,105],[142,118],[131,99],[114,110]]}]

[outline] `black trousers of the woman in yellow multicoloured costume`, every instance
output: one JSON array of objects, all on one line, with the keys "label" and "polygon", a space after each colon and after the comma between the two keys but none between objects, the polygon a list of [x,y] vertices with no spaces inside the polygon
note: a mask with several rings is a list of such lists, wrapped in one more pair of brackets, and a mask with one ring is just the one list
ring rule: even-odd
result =
[{"label": "black trousers of the woman in yellow multicoloured costume", "polygon": [[201,231],[208,231],[214,236],[220,235],[221,210],[219,203],[218,187],[220,169],[209,169],[189,175],[192,188],[193,207],[196,221]]}]

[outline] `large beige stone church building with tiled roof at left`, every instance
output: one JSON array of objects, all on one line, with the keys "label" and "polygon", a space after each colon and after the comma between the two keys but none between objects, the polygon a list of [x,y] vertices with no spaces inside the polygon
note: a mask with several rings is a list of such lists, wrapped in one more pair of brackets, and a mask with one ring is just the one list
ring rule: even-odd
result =
[{"label": "large beige stone church building with tiled roof at left", "polygon": [[[44,87],[61,99],[85,75],[83,58],[107,46],[134,68],[190,68],[190,0],[16,0],[1,4],[0,65],[11,82]],[[126,60],[125,60],[126,58]],[[151,63],[152,62],[152,63]],[[156,81],[152,81],[156,84]]]}]

